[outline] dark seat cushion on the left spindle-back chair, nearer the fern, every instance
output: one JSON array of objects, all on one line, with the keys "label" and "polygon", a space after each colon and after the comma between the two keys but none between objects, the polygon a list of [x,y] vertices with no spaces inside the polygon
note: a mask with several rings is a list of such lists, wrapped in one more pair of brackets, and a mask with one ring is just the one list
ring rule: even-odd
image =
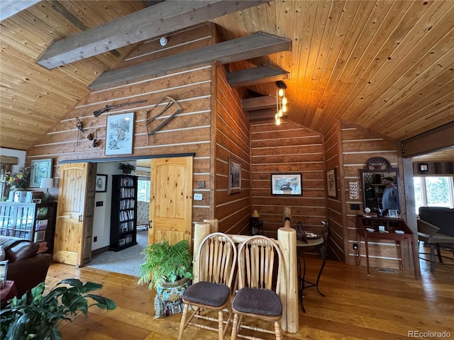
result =
[{"label": "dark seat cushion on the left spindle-back chair, nearer the fern", "polygon": [[226,303],[230,289],[227,285],[200,281],[184,290],[185,302],[196,302],[212,307],[221,307]]}]

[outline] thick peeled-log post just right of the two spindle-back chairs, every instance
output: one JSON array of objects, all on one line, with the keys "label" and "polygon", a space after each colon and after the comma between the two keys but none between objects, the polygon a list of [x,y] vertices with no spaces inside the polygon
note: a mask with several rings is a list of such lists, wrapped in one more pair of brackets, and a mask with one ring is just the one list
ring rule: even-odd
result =
[{"label": "thick peeled-log post just right of the two spindle-back chairs", "polygon": [[277,230],[277,242],[283,257],[279,292],[283,308],[281,325],[284,331],[297,333],[299,328],[297,232],[289,225],[290,221],[286,220],[284,227]]}]

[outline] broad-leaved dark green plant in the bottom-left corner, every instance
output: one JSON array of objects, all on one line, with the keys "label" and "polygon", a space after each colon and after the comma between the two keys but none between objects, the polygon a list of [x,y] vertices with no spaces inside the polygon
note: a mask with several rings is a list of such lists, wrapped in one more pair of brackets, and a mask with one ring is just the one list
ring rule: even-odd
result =
[{"label": "broad-leaved dark green plant in the bottom-left corner", "polygon": [[[87,316],[92,305],[106,310],[116,308],[114,301],[89,293],[99,288],[102,288],[99,283],[82,283],[70,278],[60,281],[47,295],[43,295],[45,283],[40,283],[31,290],[31,302],[27,301],[27,294],[24,294],[20,299],[14,297],[0,311],[1,339],[62,339],[62,334],[57,329],[61,320],[72,321],[70,316],[77,311]],[[89,300],[94,303],[89,305]]]}]

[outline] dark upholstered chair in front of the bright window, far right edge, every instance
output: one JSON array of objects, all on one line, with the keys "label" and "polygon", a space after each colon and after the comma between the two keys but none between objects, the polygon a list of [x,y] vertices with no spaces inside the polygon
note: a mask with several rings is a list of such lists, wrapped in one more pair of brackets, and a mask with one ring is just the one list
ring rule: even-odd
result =
[{"label": "dark upholstered chair in front of the bright window, far right edge", "polygon": [[[435,271],[435,248],[438,261],[443,263],[440,244],[450,246],[454,256],[454,209],[443,207],[420,207],[418,239],[431,249],[431,271]],[[451,259],[451,258],[448,258]],[[452,260],[452,259],[451,259]]]}]

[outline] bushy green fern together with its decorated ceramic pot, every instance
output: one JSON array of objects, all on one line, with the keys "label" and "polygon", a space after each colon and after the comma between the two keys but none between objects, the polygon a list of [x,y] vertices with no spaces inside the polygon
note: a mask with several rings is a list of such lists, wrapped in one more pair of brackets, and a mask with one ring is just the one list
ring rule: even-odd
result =
[{"label": "bushy green fern together with its decorated ceramic pot", "polygon": [[148,289],[156,289],[155,317],[181,312],[184,290],[192,280],[189,242],[169,244],[164,240],[143,249],[142,254],[145,262],[139,268],[138,284],[148,283]]}]

